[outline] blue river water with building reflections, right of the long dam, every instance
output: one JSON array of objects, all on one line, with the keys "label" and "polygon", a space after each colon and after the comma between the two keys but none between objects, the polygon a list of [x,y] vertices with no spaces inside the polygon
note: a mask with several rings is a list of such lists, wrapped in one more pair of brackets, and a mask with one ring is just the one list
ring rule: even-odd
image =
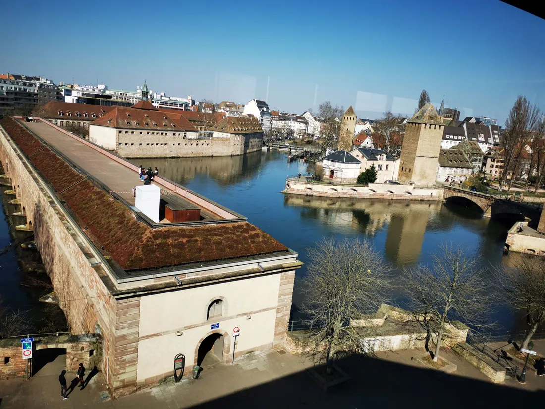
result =
[{"label": "blue river water with building reflections, right of the long dam", "polygon": [[[248,220],[307,262],[307,249],[322,237],[371,240],[393,267],[392,274],[415,263],[428,263],[444,242],[459,243],[484,266],[502,262],[507,230],[513,222],[482,218],[464,206],[440,202],[330,199],[284,195],[286,176],[305,173],[306,164],[287,163],[287,154],[255,152],[237,157],[137,159],[137,165],[156,166],[159,175],[172,179]],[[292,320],[300,318],[300,279],[297,270]],[[392,298],[403,306],[397,294]],[[499,330],[524,328],[524,322],[505,306],[493,316]]]}]

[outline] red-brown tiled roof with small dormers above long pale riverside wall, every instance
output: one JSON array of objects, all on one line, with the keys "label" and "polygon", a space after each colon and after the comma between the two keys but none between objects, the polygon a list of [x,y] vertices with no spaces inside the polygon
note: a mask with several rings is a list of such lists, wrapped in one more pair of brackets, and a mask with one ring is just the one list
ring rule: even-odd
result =
[{"label": "red-brown tiled roof with small dormers above long pale riverside wall", "polygon": [[197,129],[179,112],[137,109],[134,105],[132,107],[114,106],[113,108],[106,115],[93,121],[91,125],[109,128],[197,132]]}]

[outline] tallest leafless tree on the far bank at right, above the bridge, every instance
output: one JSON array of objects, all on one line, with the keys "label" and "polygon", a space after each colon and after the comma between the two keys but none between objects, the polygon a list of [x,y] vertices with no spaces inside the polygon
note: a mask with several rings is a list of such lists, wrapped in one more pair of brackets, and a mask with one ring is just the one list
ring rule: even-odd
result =
[{"label": "tallest leafless tree on the far bank at right, above the bridge", "polygon": [[504,169],[499,176],[500,191],[505,187],[507,178],[510,178],[507,192],[511,190],[514,176],[523,163],[524,147],[530,142],[531,131],[536,128],[540,118],[538,107],[523,95],[519,95],[505,120],[506,131],[502,143]]}]

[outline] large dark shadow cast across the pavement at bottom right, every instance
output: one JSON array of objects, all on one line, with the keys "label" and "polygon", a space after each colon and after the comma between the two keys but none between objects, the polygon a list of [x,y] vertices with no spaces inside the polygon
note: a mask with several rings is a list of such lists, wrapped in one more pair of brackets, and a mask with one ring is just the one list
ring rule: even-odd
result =
[{"label": "large dark shadow cast across the pavement at bottom right", "polygon": [[441,409],[460,409],[493,405],[516,407],[512,405],[519,406],[523,402],[531,405],[545,399],[541,391],[531,392],[383,359],[350,357],[338,360],[337,365],[352,380],[332,386],[327,392],[306,371],[301,371],[193,408],[420,408],[439,404]]}]

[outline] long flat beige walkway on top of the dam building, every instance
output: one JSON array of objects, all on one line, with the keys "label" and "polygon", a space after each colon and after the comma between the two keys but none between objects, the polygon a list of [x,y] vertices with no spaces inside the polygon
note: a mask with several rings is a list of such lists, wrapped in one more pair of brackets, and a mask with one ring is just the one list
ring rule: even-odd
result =
[{"label": "long flat beige walkway on top of the dam building", "polygon": [[[142,182],[138,178],[138,173],[129,169],[110,158],[106,155],[95,151],[93,148],[85,145],[84,143],[74,139],[62,131],[54,128],[52,125],[43,122],[21,122],[28,129],[32,130],[41,139],[47,142],[51,147],[57,149],[66,158],[77,164],[82,170],[89,173],[92,177],[104,184],[108,190],[117,193],[131,206],[135,204],[135,198],[132,196],[132,188],[142,185]],[[142,164],[146,165],[146,164]],[[175,195],[182,201],[187,201],[180,195],[174,193],[171,190],[167,190],[161,187],[162,194]],[[187,201],[194,206],[198,206],[196,203]],[[206,219],[222,219],[220,216],[210,212],[207,209],[203,209],[201,206],[201,215]]]}]

